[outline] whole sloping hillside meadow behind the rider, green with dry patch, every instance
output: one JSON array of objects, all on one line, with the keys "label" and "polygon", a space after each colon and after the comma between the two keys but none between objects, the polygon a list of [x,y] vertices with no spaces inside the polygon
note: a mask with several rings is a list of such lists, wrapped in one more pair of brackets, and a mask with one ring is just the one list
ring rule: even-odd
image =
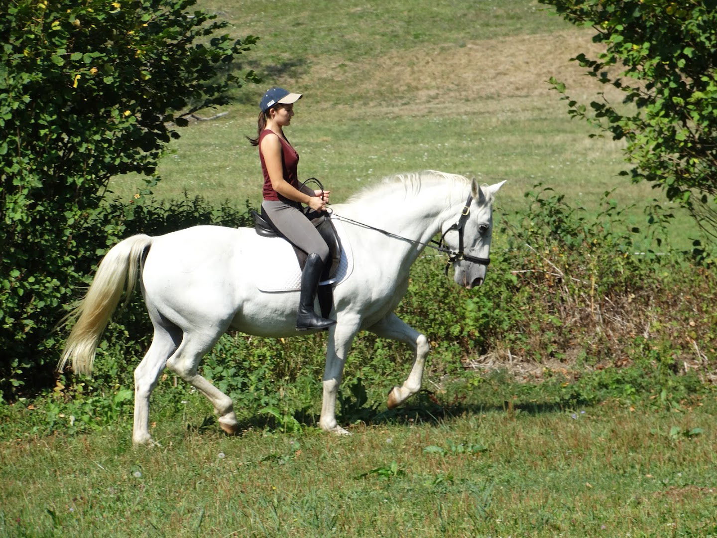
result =
[{"label": "whole sloping hillside meadow behind the rider, green with dry patch", "polygon": [[[538,181],[589,207],[617,186],[623,200],[649,196],[617,177],[619,144],[588,138],[545,82],[556,76],[576,95],[592,93],[568,61],[593,47],[589,31],[531,1],[322,4],[202,2],[237,34],[262,37],[242,67],[265,83],[239,90],[227,115],[181,130],[156,196],[260,202],[257,154],[244,136],[255,135],[256,103],[270,85],[305,95],[287,133],[300,174],[330,185],[336,199],[421,169],[508,179],[501,204],[511,209]],[[112,189],[128,199],[137,183],[118,178]]]}]

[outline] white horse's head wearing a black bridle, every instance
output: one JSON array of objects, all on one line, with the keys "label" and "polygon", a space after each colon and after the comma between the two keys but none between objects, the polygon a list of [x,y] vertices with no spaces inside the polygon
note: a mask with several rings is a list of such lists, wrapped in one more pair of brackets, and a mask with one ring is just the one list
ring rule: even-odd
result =
[{"label": "white horse's head wearing a black bridle", "polygon": [[[467,220],[462,228],[463,254],[466,258],[459,258],[453,263],[455,275],[453,279],[465,288],[473,288],[483,284],[487,263],[471,260],[470,258],[483,258],[490,256],[490,239],[493,235],[493,195],[503,187],[505,181],[493,185],[480,187],[473,179],[471,195],[473,200],[468,208]],[[465,212],[465,209],[463,210]],[[451,250],[460,251],[460,230],[449,232],[445,240]]]}]

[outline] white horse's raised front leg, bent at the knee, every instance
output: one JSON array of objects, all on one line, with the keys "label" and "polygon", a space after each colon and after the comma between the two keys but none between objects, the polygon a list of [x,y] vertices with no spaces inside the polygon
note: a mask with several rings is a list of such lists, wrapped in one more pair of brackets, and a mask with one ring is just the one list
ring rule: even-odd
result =
[{"label": "white horse's raised front leg, bent at the knee", "polygon": [[394,387],[391,389],[391,392],[389,392],[387,405],[389,409],[393,409],[421,389],[423,367],[424,364],[426,364],[426,356],[429,351],[428,340],[426,336],[405,324],[404,321],[394,313],[389,313],[388,316],[381,319],[377,324],[369,327],[369,331],[382,338],[405,342],[411,347],[414,353],[414,362],[408,378],[400,387]]}]

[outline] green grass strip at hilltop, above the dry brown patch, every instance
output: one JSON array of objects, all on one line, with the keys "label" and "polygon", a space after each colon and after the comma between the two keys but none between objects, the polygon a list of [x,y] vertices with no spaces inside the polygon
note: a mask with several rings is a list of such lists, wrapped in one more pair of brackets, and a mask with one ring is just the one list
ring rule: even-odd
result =
[{"label": "green grass strip at hilltop, above the dry brown patch", "polygon": [[290,59],[290,65],[310,68],[320,57],[354,62],[394,49],[411,51],[420,45],[444,44],[465,47],[479,39],[567,27],[561,19],[541,12],[542,6],[531,0],[347,0],[340,4],[295,0],[280,7],[271,0],[200,3],[234,22],[240,34],[259,35],[262,44],[257,65],[277,74],[282,74],[282,65],[267,60]]}]

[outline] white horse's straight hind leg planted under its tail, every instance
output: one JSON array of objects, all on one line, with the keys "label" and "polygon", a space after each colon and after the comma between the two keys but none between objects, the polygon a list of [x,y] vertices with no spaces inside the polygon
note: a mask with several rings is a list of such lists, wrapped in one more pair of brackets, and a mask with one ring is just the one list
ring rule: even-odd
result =
[{"label": "white horse's straight hind leg planted under its tail", "polygon": [[155,324],[152,344],[135,369],[135,410],[132,432],[134,445],[153,444],[149,435],[149,397],[168,357],[174,353],[180,341],[179,328]]}]

